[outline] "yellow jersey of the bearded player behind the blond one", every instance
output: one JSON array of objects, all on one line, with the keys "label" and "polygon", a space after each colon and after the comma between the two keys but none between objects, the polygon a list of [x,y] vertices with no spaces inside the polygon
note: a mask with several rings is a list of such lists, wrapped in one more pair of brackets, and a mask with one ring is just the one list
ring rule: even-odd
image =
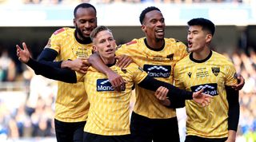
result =
[{"label": "yellow jersey of the bearded player behind the blond one", "polygon": [[[78,57],[89,57],[92,44],[83,45],[76,41],[74,29],[62,28],[52,34],[46,48],[58,52],[56,61],[75,60]],[[55,104],[55,119],[64,122],[79,122],[87,118],[89,101],[83,83],[76,84],[58,81],[58,95]]]}]

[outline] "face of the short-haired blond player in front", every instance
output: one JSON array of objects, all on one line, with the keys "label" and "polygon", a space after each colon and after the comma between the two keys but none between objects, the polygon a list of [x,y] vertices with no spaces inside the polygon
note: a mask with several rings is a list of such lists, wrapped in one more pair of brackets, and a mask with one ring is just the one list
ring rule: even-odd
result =
[{"label": "face of the short-haired blond player in front", "polygon": [[94,37],[93,48],[106,64],[114,63],[116,43],[109,30],[102,30]]}]

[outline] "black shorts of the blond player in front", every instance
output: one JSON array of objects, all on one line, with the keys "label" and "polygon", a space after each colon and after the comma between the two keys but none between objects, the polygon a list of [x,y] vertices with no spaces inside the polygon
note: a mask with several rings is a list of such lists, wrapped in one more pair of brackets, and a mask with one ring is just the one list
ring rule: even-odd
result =
[{"label": "black shorts of the blond player in front", "polygon": [[102,136],[90,132],[83,133],[84,142],[133,142],[130,135]]}]

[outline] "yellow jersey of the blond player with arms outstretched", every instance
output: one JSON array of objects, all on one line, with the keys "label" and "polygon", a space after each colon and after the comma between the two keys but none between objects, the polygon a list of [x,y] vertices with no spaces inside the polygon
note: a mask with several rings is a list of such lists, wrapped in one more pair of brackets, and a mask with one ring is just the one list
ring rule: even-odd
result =
[{"label": "yellow jersey of the blond player with arms outstretched", "polygon": [[114,91],[103,73],[90,67],[84,77],[86,93],[90,101],[90,111],[85,132],[104,136],[130,134],[129,106],[132,86],[147,76],[146,72],[132,63],[126,69],[113,65],[110,67],[126,80],[126,89]]}]

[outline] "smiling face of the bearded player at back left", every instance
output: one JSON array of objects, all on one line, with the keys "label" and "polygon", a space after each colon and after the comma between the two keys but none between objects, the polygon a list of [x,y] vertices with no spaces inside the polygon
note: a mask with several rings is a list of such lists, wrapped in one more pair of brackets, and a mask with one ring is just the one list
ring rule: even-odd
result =
[{"label": "smiling face of the bearded player at back left", "polygon": [[78,38],[83,40],[90,37],[90,33],[97,27],[96,12],[92,7],[78,8],[75,18],[74,26],[78,32]]}]

